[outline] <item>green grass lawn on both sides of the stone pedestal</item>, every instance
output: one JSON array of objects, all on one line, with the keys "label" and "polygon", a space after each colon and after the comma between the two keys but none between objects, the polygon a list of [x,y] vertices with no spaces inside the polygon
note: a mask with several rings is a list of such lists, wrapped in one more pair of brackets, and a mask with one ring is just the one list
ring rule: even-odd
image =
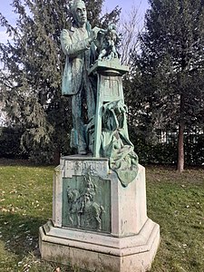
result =
[{"label": "green grass lawn on both sides of the stone pedestal", "polygon": [[[146,178],[148,215],[161,237],[151,271],[204,272],[204,170],[147,167]],[[0,160],[0,271],[78,271],[39,256],[38,228],[52,218],[52,186],[53,167]]]}]

